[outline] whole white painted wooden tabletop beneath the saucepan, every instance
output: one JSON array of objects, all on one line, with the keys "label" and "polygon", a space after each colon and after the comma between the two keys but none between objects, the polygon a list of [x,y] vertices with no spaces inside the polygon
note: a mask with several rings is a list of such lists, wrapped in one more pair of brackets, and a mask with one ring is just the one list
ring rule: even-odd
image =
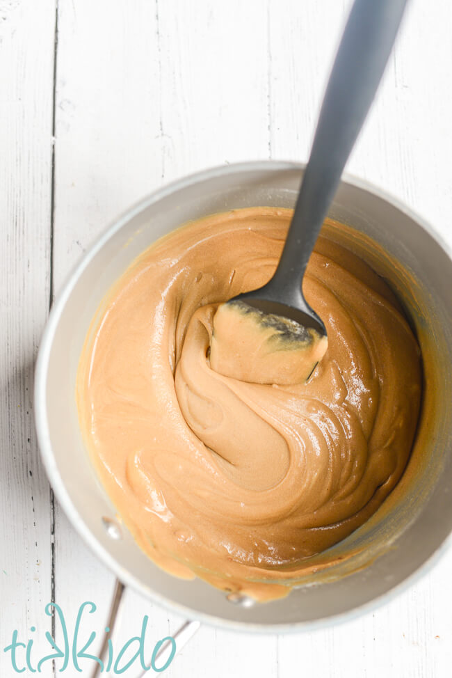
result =
[{"label": "whole white painted wooden tabletop beneath the saucepan", "polygon": [[[35,639],[33,656],[47,654],[52,596],[70,629],[79,605],[95,601],[90,624],[101,633],[113,590],[54,505],[38,457],[33,361],[49,297],[106,224],[162,183],[238,160],[307,159],[349,6],[0,0],[2,678],[15,675],[3,654],[13,629]],[[348,171],[396,194],[452,244],[451,75],[450,0],[412,0]],[[374,613],[312,633],[204,627],[166,675],[449,677],[451,567],[449,552]],[[143,614],[155,641],[180,621],[131,592],[125,608],[118,639],[139,633]],[[89,675],[90,662],[81,665]]]}]

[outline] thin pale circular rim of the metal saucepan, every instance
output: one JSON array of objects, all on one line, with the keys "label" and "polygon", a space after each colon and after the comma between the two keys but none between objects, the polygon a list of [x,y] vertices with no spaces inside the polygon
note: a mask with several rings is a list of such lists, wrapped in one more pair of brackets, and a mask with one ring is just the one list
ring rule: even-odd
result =
[{"label": "thin pale circular rim of the metal saucepan", "polygon": [[[184,178],[179,178],[173,182],[170,182],[169,184],[166,184],[164,187],[153,191],[150,195],[146,196],[142,200],[139,200],[137,203],[131,206],[129,210],[123,212],[117,219],[110,223],[102,235],[100,235],[95,240],[94,244],[90,246],[88,251],[83,254],[79,262],[76,263],[74,269],[72,269],[72,272],[67,277],[65,284],[58,293],[56,301],[51,308],[47,324],[42,333],[38,358],[35,365],[34,410],[35,427],[38,434],[40,454],[51,487],[54,489],[54,493],[58,498],[58,502],[63,507],[63,510],[70,519],[70,522],[74,526],[75,530],[82,537],[83,541],[88,544],[95,555],[97,555],[97,558],[99,558],[99,560],[101,560],[104,565],[106,565],[106,567],[108,567],[108,569],[110,569],[113,574],[115,574],[115,576],[117,576],[118,579],[122,581],[122,583],[130,586],[138,593],[170,610],[172,613],[183,615],[190,619],[195,618],[201,622],[205,622],[211,626],[217,626],[221,629],[259,633],[289,633],[314,630],[325,626],[331,626],[332,624],[353,620],[357,616],[360,616],[369,610],[375,610],[382,604],[387,603],[397,594],[409,588],[415,581],[418,581],[418,579],[421,578],[423,574],[426,574],[426,571],[432,568],[439,558],[442,557],[445,551],[451,546],[452,533],[449,533],[449,536],[446,537],[446,539],[444,539],[444,541],[439,544],[439,546],[437,546],[435,551],[433,551],[433,553],[416,570],[403,579],[403,581],[392,586],[392,588],[389,588],[385,593],[380,594],[371,601],[367,601],[366,603],[361,604],[351,610],[346,610],[343,613],[338,613],[335,615],[328,615],[314,621],[291,622],[287,624],[256,624],[255,622],[251,623],[246,622],[245,620],[232,621],[223,617],[201,613],[188,606],[172,601],[166,596],[159,594],[157,590],[144,585],[143,582],[139,581],[138,578],[131,574],[127,568],[123,567],[120,562],[118,562],[118,560],[108,553],[108,551],[104,549],[104,546],[102,546],[102,544],[99,542],[97,537],[95,537],[95,535],[91,532],[88,524],[81,518],[78,510],[76,509],[76,506],[74,505],[72,498],[65,487],[63,478],[61,478],[60,472],[58,471],[54,450],[51,445],[47,420],[46,399],[47,368],[49,365],[49,356],[60,316],[63,313],[65,303],[68,297],[70,297],[74,285],[77,281],[79,281],[79,278],[83,275],[83,271],[86,269],[92,258],[94,258],[99,250],[102,249],[104,244],[106,244],[106,242],[108,242],[108,240],[113,237],[113,235],[118,232],[118,230],[123,228],[129,221],[131,221],[131,219],[140,214],[140,212],[143,212],[143,210],[147,209],[147,207],[150,207],[150,205],[162,200],[163,198],[166,198],[167,196],[170,196],[171,194],[175,194],[182,189],[191,187],[193,184],[199,184],[200,182],[213,178],[220,178],[222,176],[231,174],[240,174],[241,172],[272,171],[278,173],[284,171],[303,171],[304,169],[304,163],[277,160],[245,161],[229,165],[221,165],[187,175]],[[373,186],[373,184],[370,184],[369,182],[366,182],[350,174],[343,175],[341,184],[348,184],[351,187],[361,189],[362,191],[367,191],[372,196],[376,196],[377,198],[384,200],[392,207],[395,207],[400,212],[406,214],[410,219],[419,224],[419,226],[421,226],[421,228],[423,228],[423,230],[425,230],[437,242],[437,244],[439,244],[442,250],[449,256],[452,264],[451,246],[444,242],[444,239],[435,231],[430,223],[419,216],[419,214],[416,214],[413,210],[411,210],[410,207],[407,207],[407,205],[402,203],[401,200],[398,200],[398,198],[387,193],[387,191],[383,191],[382,189]]]}]

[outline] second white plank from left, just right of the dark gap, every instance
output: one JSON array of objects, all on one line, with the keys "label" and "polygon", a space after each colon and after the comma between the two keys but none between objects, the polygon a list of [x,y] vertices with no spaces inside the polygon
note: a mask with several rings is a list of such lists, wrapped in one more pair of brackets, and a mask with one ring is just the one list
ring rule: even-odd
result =
[{"label": "second white plank from left, just right of the dark gap", "polygon": [[[154,7],[108,0],[58,4],[54,289],[106,223],[161,178]],[[75,61],[74,61],[75,60]],[[147,76],[143,66],[149,65]],[[139,97],[147,92],[147,107]],[[79,606],[98,607],[102,631],[114,577],[56,508],[56,600],[75,623]],[[74,581],[74,574],[76,580]],[[73,581],[71,586],[68,581]],[[99,649],[100,642],[93,645]],[[89,661],[82,663],[88,670]]]}]

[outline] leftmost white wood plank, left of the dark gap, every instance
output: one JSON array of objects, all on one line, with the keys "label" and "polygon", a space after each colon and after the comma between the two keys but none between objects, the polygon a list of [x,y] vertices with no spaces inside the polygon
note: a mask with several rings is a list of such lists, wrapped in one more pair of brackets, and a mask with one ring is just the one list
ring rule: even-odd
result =
[{"label": "leftmost white wood plank, left of the dark gap", "polygon": [[[2,676],[13,675],[3,652],[13,630],[43,646],[50,629],[49,484],[33,424],[33,363],[49,308],[54,18],[53,0],[0,1]],[[19,650],[19,668],[23,659]]]}]

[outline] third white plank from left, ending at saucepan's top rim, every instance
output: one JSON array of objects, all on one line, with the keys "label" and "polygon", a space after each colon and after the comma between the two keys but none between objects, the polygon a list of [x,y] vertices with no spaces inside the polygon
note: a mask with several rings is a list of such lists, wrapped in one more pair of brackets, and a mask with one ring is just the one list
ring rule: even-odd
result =
[{"label": "third white plank from left, ending at saucepan's top rim", "polygon": [[264,2],[159,0],[164,178],[268,157]]}]

